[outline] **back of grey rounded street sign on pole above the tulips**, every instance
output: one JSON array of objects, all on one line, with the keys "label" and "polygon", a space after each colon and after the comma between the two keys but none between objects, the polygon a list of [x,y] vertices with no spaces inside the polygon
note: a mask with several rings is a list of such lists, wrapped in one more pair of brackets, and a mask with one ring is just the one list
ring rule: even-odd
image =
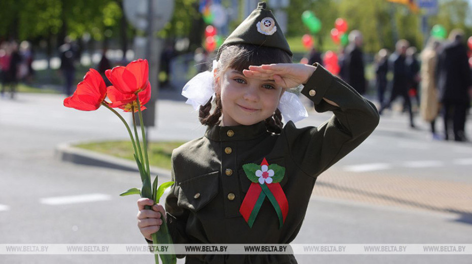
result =
[{"label": "back of grey rounded street sign on pole above the tulips", "polygon": [[[140,29],[148,29],[149,0],[123,0],[126,19],[131,25]],[[174,14],[174,0],[152,0],[153,30],[159,31]]]}]

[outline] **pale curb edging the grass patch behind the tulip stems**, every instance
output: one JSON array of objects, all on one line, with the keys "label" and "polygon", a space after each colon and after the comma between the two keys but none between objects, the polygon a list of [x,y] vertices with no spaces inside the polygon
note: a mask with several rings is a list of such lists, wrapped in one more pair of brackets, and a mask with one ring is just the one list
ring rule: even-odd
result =
[{"label": "pale curb edging the grass patch behind the tulip stems", "polygon": [[[79,143],[82,142],[74,142],[74,144]],[[136,162],[124,158],[118,158],[110,155],[97,153],[90,150],[76,148],[73,147],[71,143],[59,144],[55,149],[55,156],[59,160],[76,164],[139,173]],[[169,170],[153,166],[151,166],[149,169],[151,171],[151,175],[159,175],[171,178],[171,171]]]}]

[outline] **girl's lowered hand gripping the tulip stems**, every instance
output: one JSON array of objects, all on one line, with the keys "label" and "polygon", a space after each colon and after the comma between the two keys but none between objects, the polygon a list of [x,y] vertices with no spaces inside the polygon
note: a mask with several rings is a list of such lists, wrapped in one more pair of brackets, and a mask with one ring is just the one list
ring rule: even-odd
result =
[{"label": "girl's lowered hand gripping the tulip stems", "polygon": [[[152,206],[152,210],[144,209],[145,206]],[[164,207],[160,204],[155,204],[148,198],[141,198],[138,200],[138,227],[141,234],[147,239],[152,240],[151,235],[156,233],[162,224],[161,215],[165,219]]]}]

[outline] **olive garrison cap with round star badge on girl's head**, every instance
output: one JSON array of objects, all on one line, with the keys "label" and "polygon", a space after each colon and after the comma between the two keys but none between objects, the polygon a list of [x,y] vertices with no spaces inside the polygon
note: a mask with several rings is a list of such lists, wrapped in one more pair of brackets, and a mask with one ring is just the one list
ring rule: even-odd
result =
[{"label": "olive garrison cap with round star badge on girl's head", "polygon": [[257,8],[226,38],[218,50],[218,57],[224,46],[235,44],[279,48],[290,56],[293,55],[274,14],[266,8],[265,2],[257,5]]}]

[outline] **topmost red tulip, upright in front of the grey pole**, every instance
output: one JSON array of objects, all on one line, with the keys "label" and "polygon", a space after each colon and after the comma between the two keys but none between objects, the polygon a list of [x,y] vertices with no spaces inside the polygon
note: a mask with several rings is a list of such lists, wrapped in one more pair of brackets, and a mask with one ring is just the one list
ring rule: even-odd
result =
[{"label": "topmost red tulip, upright in front of the grey pole", "polygon": [[118,66],[105,71],[105,75],[115,88],[125,94],[144,90],[149,84],[149,65],[146,59],[128,63],[126,67]]}]

